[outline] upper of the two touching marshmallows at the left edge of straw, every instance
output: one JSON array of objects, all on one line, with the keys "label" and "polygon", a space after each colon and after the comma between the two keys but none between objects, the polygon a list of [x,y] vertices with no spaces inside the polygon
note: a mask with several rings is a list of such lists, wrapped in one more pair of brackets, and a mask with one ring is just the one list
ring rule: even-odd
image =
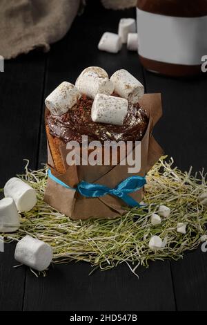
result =
[{"label": "upper of the two touching marshmallows at the left edge of straw", "polygon": [[32,187],[23,180],[12,177],[4,186],[4,196],[13,198],[17,205],[17,210],[27,212],[37,203],[37,194]]}]

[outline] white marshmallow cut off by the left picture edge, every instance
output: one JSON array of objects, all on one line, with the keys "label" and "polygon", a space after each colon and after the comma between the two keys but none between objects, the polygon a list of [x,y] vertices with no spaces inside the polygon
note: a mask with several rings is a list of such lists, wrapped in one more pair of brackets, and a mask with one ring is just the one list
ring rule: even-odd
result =
[{"label": "white marshmallow cut off by the left picture edge", "polygon": [[0,200],[0,232],[15,232],[20,227],[19,214],[12,198]]}]

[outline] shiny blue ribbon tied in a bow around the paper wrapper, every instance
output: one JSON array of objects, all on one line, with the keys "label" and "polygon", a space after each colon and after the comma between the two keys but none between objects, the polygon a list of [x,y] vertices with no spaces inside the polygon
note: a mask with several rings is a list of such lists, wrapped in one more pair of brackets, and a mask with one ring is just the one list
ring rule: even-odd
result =
[{"label": "shiny blue ribbon tied in a bow around the paper wrapper", "polygon": [[59,180],[59,178],[52,175],[50,169],[48,170],[48,176],[59,185],[62,185],[67,189],[73,189],[79,192],[79,194],[88,198],[98,198],[100,196],[110,194],[121,198],[121,200],[123,200],[127,205],[130,205],[131,207],[140,207],[140,205],[137,201],[134,200],[134,198],[128,196],[128,194],[138,191],[139,189],[141,189],[141,187],[144,187],[144,185],[146,184],[145,177],[131,176],[119,183],[119,185],[117,185],[114,189],[111,189],[110,187],[107,187],[105,185],[88,183],[84,180],[81,180],[77,187],[73,188],[66,185],[61,180]]}]

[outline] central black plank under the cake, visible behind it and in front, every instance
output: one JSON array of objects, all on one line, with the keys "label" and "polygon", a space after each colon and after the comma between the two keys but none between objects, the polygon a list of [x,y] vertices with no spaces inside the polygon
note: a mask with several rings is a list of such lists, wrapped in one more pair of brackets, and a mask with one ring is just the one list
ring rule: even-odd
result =
[{"label": "central black plank under the cake, visible behind it and in front", "polygon": [[[112,55],[100,52],[97,44],[106,30],[116,32],[121,17],[132,17],[134,10],[107,11],[89,6],[77,17],[68,35],[51,48],[46,74],[48,95],[63,80],[75,82],[87,66],[101,66],[109,75],[126,68],[144,82],[136,53]],[[42,123],[39,162],[46,162],[46,136]],[[152,263],[139,268],[138,280],[126,265],[88,276],[86,263],[70,263],[50,268],[46,278],[36,279],[28,272],[24,310],[175,310],[169,263]]]}]

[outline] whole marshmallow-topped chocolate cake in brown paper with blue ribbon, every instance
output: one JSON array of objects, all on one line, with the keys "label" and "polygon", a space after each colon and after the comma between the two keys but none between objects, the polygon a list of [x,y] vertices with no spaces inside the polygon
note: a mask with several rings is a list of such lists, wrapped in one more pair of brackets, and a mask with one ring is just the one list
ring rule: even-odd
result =
[{"label": "whole marshmallow-topped chocolate cake in brown paper with blue ribbon", "polygon": [[146,174],[163,154],[152,136],[160,117],[161,95],[144,94],[124,69],[108,77],[90,66],[75,84],[62,82],[46,98],[44,201],[75,220],[114,218],[139,207]]}]

